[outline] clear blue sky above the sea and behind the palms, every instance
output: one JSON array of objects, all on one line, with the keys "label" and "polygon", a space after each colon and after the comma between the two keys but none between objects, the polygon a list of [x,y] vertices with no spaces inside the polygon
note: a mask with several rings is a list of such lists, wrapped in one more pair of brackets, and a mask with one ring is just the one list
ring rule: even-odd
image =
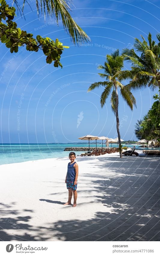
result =
[{"label": "clear blue sky above the sea and behind the palms", "polygon": [[[101,108],[103,89],[87,93],[88,87],[102,79],[97,67],[107,54],[115,49],[132,47],[134,38],[156,40],[159,33],[159,1],[73,1],[72,17],[91,38],[89,44],[74,46],[61,22],[40,15],[34,1],[25,6],[25,18],[15,21],[22,30],[36,37],[58,38],[65,49],[63,68],[47,64],[41,51],[28,52],[19,48],[11,54],[0,44],[1,74],[1,139],[0,143],[72,143],[86,134],[117,137],[116,119],[110,108],[110,99]],[[23,2],[19,2],[21,5]],[[125,69],[130,65],[125,62]],[[3,74],[2,74],[3,73]],[[134,125],[152,106],[157,91],[148,88],[133,92],[137,108],[133,111],[119,97],[121,138],[136,140]]]}]

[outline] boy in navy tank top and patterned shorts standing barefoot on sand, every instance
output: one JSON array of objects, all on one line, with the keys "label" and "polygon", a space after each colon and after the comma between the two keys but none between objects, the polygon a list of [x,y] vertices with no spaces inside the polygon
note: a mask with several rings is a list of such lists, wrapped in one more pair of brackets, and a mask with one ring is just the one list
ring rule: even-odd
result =
[{"label": "boy in navy tank top and patterned shorts standing barefoot on sand", "polygon": [[71,204],[72,192],[74,196],[74,203],[72,207],[76,207],[77,201],[77,178],[78,178],[78,165],[75,162],[76,154],[74,152],[69,153],[69,159],[71,163],[68,163],[67,175],[65,177],[65,183],[67,184],[68,189],[68,202],[64,205]]}]

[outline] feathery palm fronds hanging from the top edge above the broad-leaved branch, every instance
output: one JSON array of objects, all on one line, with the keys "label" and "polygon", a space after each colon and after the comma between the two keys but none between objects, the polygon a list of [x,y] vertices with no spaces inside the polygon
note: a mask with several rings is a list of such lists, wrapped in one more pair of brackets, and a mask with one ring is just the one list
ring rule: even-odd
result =
[{"label": "feathery palm fronds hanging from the top edge above the broad-leaved branch", "polygon": [[[23,7],[21,8],[17,0],[13,0],[13,2],[16,4],[17,9],[20,11],[21,15],[23,14],[25,3],[29,3],[27,0],[23,0]],[[89,36],[87,36],[87,34],[77,25],[69,13],[69,11],[71,11],[71,2],[71,0],[36,0],[35,4],[38,16],[40,12],[42,13],[43,10],[44,18],[46,14],[47,16],[54,17],[57,24],[61,19],[65,31],[68,32],[74,44],[90,41]]]}]

